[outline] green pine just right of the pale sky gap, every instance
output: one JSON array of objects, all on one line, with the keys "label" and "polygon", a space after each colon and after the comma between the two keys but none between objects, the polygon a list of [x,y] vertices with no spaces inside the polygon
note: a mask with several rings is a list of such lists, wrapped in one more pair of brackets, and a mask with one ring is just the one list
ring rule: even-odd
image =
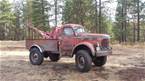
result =
[{"label": "green pine just right of the pale sky gap", "polygon": [[115,39],[119,42],[125,42],[127,34],[127,0],[118,0],[116,8],[116,22],[113,28]]}]

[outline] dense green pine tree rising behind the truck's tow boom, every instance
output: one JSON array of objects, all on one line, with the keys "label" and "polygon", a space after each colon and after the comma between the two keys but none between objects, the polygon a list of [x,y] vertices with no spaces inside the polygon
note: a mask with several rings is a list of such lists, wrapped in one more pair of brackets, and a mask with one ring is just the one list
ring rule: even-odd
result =
[{"label": "dense green pine tree rising behind the truck's tow boom", "polygon": [[41,27],[40,29],[48,31],[50,26],[47,0],[32,0],[31,6],[32,23],[34,26]]}]

